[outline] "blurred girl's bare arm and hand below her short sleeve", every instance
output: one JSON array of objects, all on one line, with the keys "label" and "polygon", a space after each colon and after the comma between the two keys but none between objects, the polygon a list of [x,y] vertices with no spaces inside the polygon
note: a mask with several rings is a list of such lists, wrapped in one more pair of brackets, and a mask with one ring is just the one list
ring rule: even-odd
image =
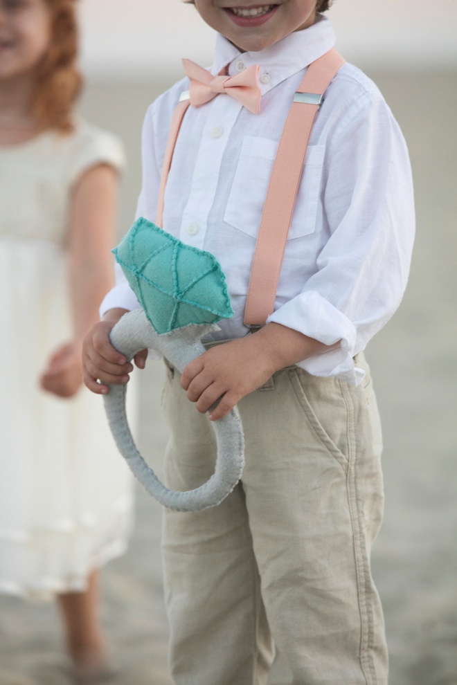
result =
[{"label": "blurred girl's bare arm and hand below her short sleeve", "polygon": [[82,384],[82,340],[113,285],[117,192],[118,174],[107,164],[91,167],[73,190],[68,264],[73,339],[54,351],[40,379],[44,390],[61,397],[72,396]]}]

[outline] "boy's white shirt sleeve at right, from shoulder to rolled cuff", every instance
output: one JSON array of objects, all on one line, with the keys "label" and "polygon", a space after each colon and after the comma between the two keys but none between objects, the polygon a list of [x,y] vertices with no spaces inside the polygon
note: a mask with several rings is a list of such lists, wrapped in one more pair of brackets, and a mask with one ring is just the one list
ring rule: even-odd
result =
[{"label": "boy's white shirt sleeve at right, from shoulder to rolled cuff", "polygon": [[362,96],[329,136],[323,230],[316,273],[269,317],[333,346],[298,365],[357,385],[352,359],[397,309],[409,275],[415,229],[411,165],[381,96]]}]

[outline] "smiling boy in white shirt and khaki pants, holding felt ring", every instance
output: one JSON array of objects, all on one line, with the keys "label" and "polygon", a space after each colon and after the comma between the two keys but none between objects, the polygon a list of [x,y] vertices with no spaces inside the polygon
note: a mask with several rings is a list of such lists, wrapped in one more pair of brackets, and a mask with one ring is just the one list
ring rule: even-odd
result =
[{"label": "smiling boy in white shirt and khaki pants, holding felt ring", "polygon": [[[334,46],[318,11],[328,4],[195,0],[218,32],[211,73],[231,77],[258,64],[262,98],[253,113],[225,93],[194,106],[191,93],[165,192],[164,230],[217,257],[235,311],[181,378],[169,368],[168,486],[190,489],[212,473],[215,444],[204,414],[217,399],[209,418],[238,403],[246,441],[242,482],[222,504],[165,512],[178,685],[387,682],[369,564],[382,519],[381,434],[363,350],[406,286],[413,194],[402,134],[353,66],[334,77],[314,122],[274,313],[254,334],[243,324],[287,112],[307,66]],[[179,82],[147,113],[138,216],[156,215],[168,129],[188,86]],[[121,279],[84,345],[93,392],[128,380],[132,365],[108,335],[134,307]],[[137,356],[139,367],[144,359]]]}]

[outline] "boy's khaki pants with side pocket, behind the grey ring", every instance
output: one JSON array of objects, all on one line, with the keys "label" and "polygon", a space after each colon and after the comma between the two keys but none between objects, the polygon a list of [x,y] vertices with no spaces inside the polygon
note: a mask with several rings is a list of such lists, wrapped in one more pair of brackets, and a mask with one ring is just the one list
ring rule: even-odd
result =
[{"label": "boy's khaki pants with side pocket, behind the grey ring", "polygon": [[[370,548],[382,520],[379,416],[361,387],[289,367],[240,401],[242,482],[219,506],[165,511],[177,685],[386,685]],[[168,368],[168,486],[210,477],[215,439]]]}]

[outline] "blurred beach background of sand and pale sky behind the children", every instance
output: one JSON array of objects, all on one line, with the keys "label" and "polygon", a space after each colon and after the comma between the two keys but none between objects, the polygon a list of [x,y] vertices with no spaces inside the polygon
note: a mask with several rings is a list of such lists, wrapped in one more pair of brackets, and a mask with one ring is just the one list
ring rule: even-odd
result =
[{"label": "blurred beach background of sand and pale sky behind the children", "polygon": [[[213,32],[181,0],[81,0],[84,117],[127,147],[119,232],[141,181],[145,109],[181,77],[180,57],[211,63]],[[370,343],[384,423],[386,513],[373,554],[391,685],[457,685],[457,3],[336,0],[337,48],[373,77],[409,145],[418,235],[409,289]],[[166,434],[160,363],[141,375],[141,448],[160,473]],[[138,491],[129,552],[103,572],[103,619],[116,683],[170,685],[160,507]],[[0,597],[1,673],[65,685],[53,605]],[[233,684],[238,685],[238,684]]]}]

